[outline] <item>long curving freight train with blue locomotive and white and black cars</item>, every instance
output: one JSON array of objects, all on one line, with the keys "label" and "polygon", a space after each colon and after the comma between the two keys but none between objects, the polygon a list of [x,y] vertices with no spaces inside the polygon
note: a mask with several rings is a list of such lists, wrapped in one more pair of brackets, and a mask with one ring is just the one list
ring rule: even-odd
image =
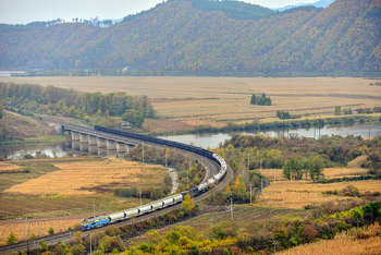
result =
[{"label": "long curving freight train with blue locomotive and white and black cars", "polygon": [[113,129],[108,129],[103,126],[96,125],[94,127],[98,132],[103,132],[103,133],[111,133],[120,136],[125,136],[138,141],[144,141],[148,143],[153,143],[153,144],[159,144],[159,145],[164,145],[169,147],[174,147],[174,148],[180,148],[183,150],[192,151],[194,154],[204,156],[214,162],[220,167],[219,172],[214,174],[213,177],[207,179],[205,182],[198,184],[197,186],[192,187],[189,191],[183,192],[181,194],[175,194],[171,196],[167,196],[164,198],[161,198],[159,201],[151,202],[146,205],[142,205],[139,207],[134,207],[130,208],[123,211],[110,214],[110,215],[105,215],[105,216],[97,216],[97,217],[91,217],[88,219],[83,220],[82,222],[82,229],[85,230],[90,230],[95,228],[101,228],[107,224],[112,224],[119,221],[136,218],[146,214],[150,214],[157,210],[161,210],[163,208],[176,205],[181,203],[184,199],[184,195],[187,193],[190,193],[193,196],[197,196],[206,191],[208,191],[211,186],[214,184],[218,184],[223,180],[223,178],[226,174],[226,162],[225,160],[218,154],[213,154],[209,150],[195,147],[192,145],[186,145],[177,142],[172,142],[172,141],[167,141],[167,139],[161,139],[152,136],[147,136],[147,135],[140,135],[140,134],[135,134],[131,132],[124,132],[124,131],[119,131],[119,130],[113,130]]}]

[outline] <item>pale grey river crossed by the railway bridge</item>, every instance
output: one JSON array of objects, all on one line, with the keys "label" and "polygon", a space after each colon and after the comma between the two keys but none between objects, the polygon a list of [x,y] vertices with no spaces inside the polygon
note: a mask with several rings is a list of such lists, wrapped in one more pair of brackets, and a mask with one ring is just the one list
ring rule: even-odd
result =
[{"label": "pale grey river crossed by the railway bridge", "polygon": [[[185,135],[167,135],[159,136],[160,138],[175,141],[184,144],[193,144],[202,148],[218,148],[224,141],[232,138],[234,134],[256,135],[263,134],[271,137],[290,137],[290,136],[305,136],[315,137],[323,135],[340,135],[340,136],[361,136],[364,138],[374,137],[381,135],[381,123],[355,124],[351,126],[324,126],[317,129],[297,129],[297,130],[278,130],[266,132],[236,132],[236,133],[202,133],[202,134],[185,134]],[[16,146],[0,147],[0,157],[5,159],[22,159],[25,156],[47,156],[50,158],[60,158],[73,155],[72,151],[64,149],[63,144],[47,145],[47,146]]]}]

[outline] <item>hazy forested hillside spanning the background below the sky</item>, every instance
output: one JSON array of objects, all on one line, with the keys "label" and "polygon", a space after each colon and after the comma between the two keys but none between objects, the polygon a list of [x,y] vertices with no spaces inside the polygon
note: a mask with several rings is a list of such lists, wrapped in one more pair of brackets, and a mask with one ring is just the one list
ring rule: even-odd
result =
[{"label": "hazy forested hillside spanning the background below the sky", "polygon": [[180,74],[381,71],[381,1],[327,9],[169,0],[110,27],[1,25],[0,69]]}]

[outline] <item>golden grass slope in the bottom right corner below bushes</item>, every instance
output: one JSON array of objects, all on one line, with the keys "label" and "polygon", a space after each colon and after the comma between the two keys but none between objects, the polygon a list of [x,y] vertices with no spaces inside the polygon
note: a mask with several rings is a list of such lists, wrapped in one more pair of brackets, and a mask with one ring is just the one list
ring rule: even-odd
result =
[{"label": "golden grass slope in the bottom right corner below bushes", "polygon": [[292,255],[377,255],[381,254],[381,236],[376,236],[381,232],[379,224],[371,226],[365,232],[370,232],[368,239],[356,239],[353,233],[344,232],[337,234],[333,240],[322,240],[316,243],[299,245],[276,254]]}]

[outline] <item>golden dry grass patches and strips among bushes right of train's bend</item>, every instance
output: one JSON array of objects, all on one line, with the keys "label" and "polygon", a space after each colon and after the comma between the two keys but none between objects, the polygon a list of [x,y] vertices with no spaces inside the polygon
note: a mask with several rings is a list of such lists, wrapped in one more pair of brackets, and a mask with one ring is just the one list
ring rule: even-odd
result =
[{"label": "golden dry grass patches and strips among bushes right of train's bend", "polygon": [[[287,181],[282,175],[282,169],[263,169],[261,172],[271,180],[270,186],[266,187],[260,196],[261,205],[265,206],[303,209],[306,205],[315,203],[348,199],[345,196],[322,194],[327,191],[341,191],[347,185],[356,186],[360,193],[381,192],[381,181],[379,180],[321,184],[312,183],[309,180]],[[367,169],[364,168],[327,168],[324,177],[327,179],[358,177],[366,172]],[[273,181],[274,177],[275,182]]]}]

